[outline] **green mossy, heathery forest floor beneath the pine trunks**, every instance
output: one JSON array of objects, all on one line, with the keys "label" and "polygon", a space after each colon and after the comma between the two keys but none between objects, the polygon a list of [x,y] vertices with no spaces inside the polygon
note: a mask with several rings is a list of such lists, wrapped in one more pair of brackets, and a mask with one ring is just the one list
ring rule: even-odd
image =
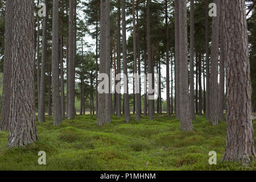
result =
[{"label": "green mossy, heathery forest floor beneath the pine trunks", "polygon": [[[134,118],[125,123],[113,116],[112,123],[98,127],[93,115],[77,115],[59,126],[46,117],[36,123],[38,141],[18,148],[7,148],[8,132],[2,132],[0,170],[256,170],[256,160],[249,166],[222,162],[225,122],[212,126],[197,115],[195,131],[184,132],[175,115]],[[38,164],[39,151],[46,152],[46,165]],[[209,151],[217,152],[216,165],[209,164]]]}]

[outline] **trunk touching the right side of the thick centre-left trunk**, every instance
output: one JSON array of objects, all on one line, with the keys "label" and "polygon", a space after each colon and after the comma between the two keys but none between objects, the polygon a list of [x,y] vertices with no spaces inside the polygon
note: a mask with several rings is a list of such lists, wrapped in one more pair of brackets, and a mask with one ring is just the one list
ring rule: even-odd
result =
[{"label": "trunk touching the right side of the thick centre-left trunk", "polygon": [[112,94],[110,93],[110,0],[106,0],[106,74],[109,77],[109,92],[106,93],[106,123],[111,122]]}]

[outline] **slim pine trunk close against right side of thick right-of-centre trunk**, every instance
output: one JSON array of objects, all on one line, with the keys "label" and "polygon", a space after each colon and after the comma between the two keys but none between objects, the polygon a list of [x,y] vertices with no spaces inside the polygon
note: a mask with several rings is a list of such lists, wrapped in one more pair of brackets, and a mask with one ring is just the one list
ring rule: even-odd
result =
[{"label": "slim pine trunk close against right side of thick right-of-centre trunk", "polygon": [[191,119],[195,120],[195,102],[194,102],[194,0],[190,0],[190,104],[191,104]]}]

